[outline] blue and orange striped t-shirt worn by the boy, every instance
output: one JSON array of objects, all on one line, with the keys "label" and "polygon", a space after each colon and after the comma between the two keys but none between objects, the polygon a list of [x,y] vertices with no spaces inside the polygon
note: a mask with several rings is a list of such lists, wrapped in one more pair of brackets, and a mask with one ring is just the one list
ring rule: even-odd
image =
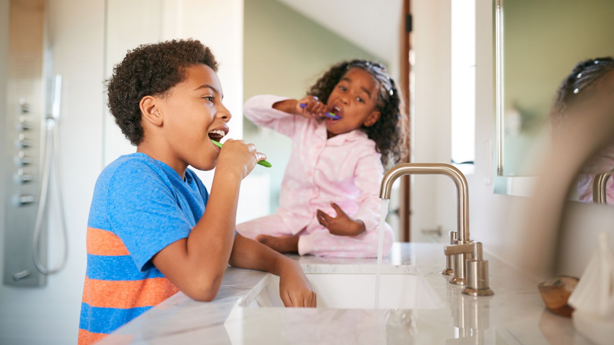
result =
[{"label": "blue and orange striped t-shirt worn by the boy", "polygon": [[183,180],[143,153],[103,170],[88,219],[79,344],[98,341],[178,291],[151,259],[188,237],[208,196],[192,170]]}]

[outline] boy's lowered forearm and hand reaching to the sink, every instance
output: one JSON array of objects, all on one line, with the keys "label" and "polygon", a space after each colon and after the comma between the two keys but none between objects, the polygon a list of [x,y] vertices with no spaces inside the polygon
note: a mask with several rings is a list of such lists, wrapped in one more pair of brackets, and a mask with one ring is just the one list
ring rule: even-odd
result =
[{"label": "boy's lowered forearm and hand reaching to the sink", "polygon": [[230,254],[230,265],[267,271],[279,276],[279,295],[285,306],[316,307],[316,292],[296,260],[239,234]]}]

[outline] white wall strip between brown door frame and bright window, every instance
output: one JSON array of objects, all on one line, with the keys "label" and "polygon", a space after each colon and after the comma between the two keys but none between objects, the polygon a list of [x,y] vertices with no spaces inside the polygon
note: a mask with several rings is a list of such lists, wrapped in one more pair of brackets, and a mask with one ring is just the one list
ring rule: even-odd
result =
[{"label": "white wall strip between brown door frame and bright window", "polygon": [[[415,54],[411,161],[449,163],[451,2],[416,0],[411,6]],[[437,227],[441,227],[444,241],[448,230],[456,230],[456,187],[446,176],[414,175],[411,241],[427,241],[422,230]]]}]

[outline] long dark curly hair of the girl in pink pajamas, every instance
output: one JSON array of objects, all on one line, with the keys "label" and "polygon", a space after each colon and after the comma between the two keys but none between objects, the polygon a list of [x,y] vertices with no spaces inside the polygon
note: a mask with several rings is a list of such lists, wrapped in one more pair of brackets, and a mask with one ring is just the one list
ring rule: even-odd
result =
[{"label": "long dark curly hair of the girl in pink pajamas", "polygon": [[363,126],[362,129],[375,142],[376,151],[382,155],[382,164],[386,165],[389,162],[395,164],[405,159],[408,153],[403,150],[405,145],[402,143],[405,136],[400,125],[402,118],[401,97],[394,80],[387,74],[384,65],[361,59],[342,61],[325,72],[316,84],[311,86],[307,94],[317,96],[322,102],[327,103],[328,96],[332,93],[335,85],[349,69],[354,67],[366,70],[379,83],[377,108],[381,116],[373,126]]}]

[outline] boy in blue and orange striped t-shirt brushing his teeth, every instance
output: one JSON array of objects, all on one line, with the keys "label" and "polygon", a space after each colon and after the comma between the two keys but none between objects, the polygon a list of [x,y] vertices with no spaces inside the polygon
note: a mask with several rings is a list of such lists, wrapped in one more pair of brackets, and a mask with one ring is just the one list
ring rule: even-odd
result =
[{"label": "boy in blue and orange striped t-shirt brushing his teeth", "polygon": [[[286,306],[316,306],[295,260],[235,234],[241,180],[266,156],[228,139],[217,62],[198,40],[141,45],[108,80],[115,123],[137,152],[98,177],[87,228],[79,344],[90,344],[181,290],[216,297],[228,264],[278,275]],[[188,169],[216,168],[211,194]]]}]

